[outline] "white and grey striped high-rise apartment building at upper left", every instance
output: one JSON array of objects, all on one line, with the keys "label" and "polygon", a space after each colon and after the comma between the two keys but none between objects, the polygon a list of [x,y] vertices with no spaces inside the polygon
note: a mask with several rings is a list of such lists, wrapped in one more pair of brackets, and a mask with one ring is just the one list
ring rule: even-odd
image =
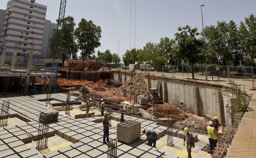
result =
[{"label": "white and grey striped high-rise apartment building at upper left", "polygon": [[[7,56],[12,56],[16,48],[17,59],[27,57],[33,44],[34,54],[41,54],[46,10],[47,6],[35,0],[10,0],[7,3],[0,36],[7,41]],[[6,60],[9,62],[9,57]]]}]

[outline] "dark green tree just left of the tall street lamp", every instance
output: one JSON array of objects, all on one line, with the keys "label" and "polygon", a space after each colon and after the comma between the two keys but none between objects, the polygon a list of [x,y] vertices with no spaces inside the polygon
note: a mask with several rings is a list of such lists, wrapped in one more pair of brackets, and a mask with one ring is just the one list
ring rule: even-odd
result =
[{"label": "dark green tree just left of the tall street lamp", "polygon": [[175,34],[175,41],[177,42],[175,56],[179,59],[186,59],[191,64],[192,78],[194,77],[194,64],[198,59],[200,53],[200,40],[195,36],[198,35],[197,28],[191,29],[189,25],[185,27],[178,27],[179,32]]}]

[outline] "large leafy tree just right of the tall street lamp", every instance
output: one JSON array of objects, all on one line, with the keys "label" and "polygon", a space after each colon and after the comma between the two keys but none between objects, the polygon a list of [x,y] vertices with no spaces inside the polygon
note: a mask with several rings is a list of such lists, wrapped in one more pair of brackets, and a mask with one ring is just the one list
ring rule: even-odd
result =
[{"label": "large leafy tree just right of the tall street lamp", "polygon": [[230,23],[218,21],[216,27],[213,25],[205,27],[205,37],[208,50],[226,63],[230,78],[230,61],[234,64],[236,59],[242,57],[236,24],[233,21]]}]

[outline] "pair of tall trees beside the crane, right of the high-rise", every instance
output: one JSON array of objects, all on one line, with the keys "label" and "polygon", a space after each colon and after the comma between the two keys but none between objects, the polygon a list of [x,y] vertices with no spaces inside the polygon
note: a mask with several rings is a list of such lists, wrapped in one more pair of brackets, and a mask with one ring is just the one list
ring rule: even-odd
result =
[{"label": "pair of tall trees beside the crane, right of the high-rise", "polygon": [[63,50],[59,57],[56,57],[56,37],[60,36],[61,32],[55,31],[49,40],[54,57],[62,59],[62,65],[64,65],[67,55],[72,55],[72,59],[77,60],[78,50],[81,50],[82,60],[92,58],[91,55],[95,52],[95,48],[100,46],[100,26],[93,24],[93,21],[91,20],[86,21],[84,18],[82,18],[78,23],[77,28],[75,28],[75,26],[76,23],[72,16],[64,18],[62,32],[63,41],[61,44],[61,48],[63,48]]}]

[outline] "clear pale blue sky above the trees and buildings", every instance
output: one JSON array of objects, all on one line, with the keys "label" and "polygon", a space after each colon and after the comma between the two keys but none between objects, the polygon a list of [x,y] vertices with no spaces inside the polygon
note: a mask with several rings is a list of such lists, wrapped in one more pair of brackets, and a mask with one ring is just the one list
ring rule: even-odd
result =
[{"label": "clear pale blue sky above the trees and buildings", "polygon": [[[8,0],[1,0],[0,9],[6,9]],[[56,21],[60,0],[36,0],[47,5],[47,19]],[[238,25],[249,14],[256,14],[256,0],[136,0],[136,44],[135,0],[132,0],[131,48],[143,48],[151,41],[157,43],[161,37],[173,38],[177,27],[190,25],[202,29],[200,5],[204,4],[204,24],[233,19]],[[130,0],[67,0],[66,16],[73,16],[78,24],[81,18],[92,20],[102,29],[101,46],[96,49],[120,56],[130,48]]]}]

